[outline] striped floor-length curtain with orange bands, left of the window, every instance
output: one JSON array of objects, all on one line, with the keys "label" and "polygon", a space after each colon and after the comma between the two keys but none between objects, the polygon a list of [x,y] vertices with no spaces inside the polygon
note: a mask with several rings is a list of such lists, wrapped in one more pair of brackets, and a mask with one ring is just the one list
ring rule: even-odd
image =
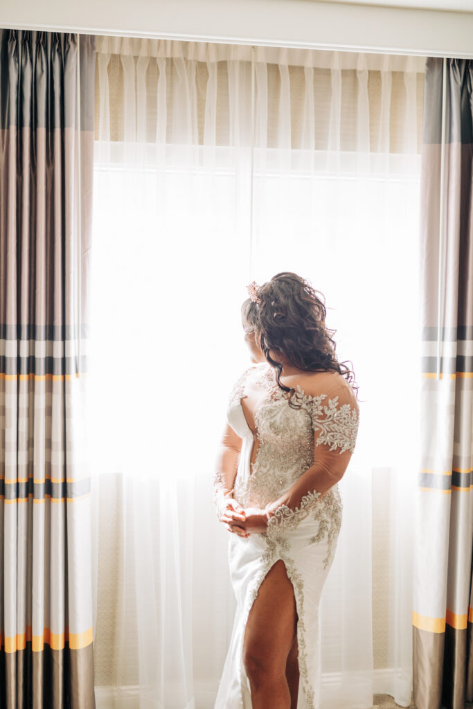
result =
[{"label": "striped floor-length curtain with orange bands, left of the window", "polygon": [[0,30],[1,709],[95,706],[82,416],[94,69],[92,37]]}]

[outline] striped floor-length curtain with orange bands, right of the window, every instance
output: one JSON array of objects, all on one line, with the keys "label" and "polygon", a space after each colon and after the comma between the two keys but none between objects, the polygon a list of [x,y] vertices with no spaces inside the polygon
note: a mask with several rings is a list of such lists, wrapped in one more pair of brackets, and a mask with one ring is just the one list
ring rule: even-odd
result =
[{"label": "striped floor-length curtain with orange bands, right of the window", "polygon": [[[473,62],[425,66],[421,474],[413,588],[418,709],[473,700]],[[445,101],[443,101],[445,96]]]}]

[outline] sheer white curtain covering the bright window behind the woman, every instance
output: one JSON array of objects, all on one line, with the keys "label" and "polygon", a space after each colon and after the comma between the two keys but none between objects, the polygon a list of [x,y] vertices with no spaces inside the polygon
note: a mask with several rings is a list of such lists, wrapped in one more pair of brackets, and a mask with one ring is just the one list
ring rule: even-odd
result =
[{"label": "sheer white curtain covering the bright window behind the woman", "polygon": [[89,426],[101,706],[211,709],[233,623],[211,478],[246,284],[322,291],[360,386],[323,708],[411,700],[424,60],[97,38]]}]

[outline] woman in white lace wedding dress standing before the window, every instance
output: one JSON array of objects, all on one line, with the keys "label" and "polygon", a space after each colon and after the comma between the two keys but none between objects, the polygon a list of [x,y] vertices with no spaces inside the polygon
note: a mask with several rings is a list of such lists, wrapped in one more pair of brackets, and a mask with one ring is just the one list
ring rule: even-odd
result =
[{"label": "woman in white lace wedding dress standing before the window", "polygon": [[318,608],[360,409],[318,291],[291,272],[247,288],[253,364],[230,395],[214,477],[237,599],[214,709],[319,709]]}]

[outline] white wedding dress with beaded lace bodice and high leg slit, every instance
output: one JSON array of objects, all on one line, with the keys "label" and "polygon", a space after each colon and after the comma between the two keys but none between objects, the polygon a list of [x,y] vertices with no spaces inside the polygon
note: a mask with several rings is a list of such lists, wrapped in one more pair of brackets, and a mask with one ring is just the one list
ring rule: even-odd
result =
[{"label": "white wedding dress with beaded lace bodice and high leg slit", "polygon": [[[228,471],[216,471],[216,498],[219,494],[231,493],[243,507],[264,508],[267,503],[279,500],[284,491],[307,473],[297,504],[280,506],[265,533],[251,534],[247,538],[228,535],[230,576],[238,605],[214,709],[252,709],[243,666],[245,625],[260,584],[279,559],[284,562],[293,585],[298,615],[297,706],[298,709],[320,707],[318,608],[333,562],[343,504],[338,484],[321,495],[313,488],[308,469],[320,462],[320,481],[321,468],[330,475],[330,466],[336,467],[338,462],[336,458],[344,451],[354,450],[359,406],[354,391],[341,374],[321,372],[316,376],[313,381],[320,386],[317,395],[310,396],[300,386],[296,387],[292,401],[301,405],[298,409],[289,405],[290,392],[280,389],[276,372],[267,362],[247,367],[230,395],[227,419],[242,439],[242,445],[236,476],[233,474],[233,479],[228,479]],[[261,386],[267,391],[255,412],[257,440],[241,406],[245,386],[250,381],[253,387]],[[251,471],[254,442],[259,447]]]}]

